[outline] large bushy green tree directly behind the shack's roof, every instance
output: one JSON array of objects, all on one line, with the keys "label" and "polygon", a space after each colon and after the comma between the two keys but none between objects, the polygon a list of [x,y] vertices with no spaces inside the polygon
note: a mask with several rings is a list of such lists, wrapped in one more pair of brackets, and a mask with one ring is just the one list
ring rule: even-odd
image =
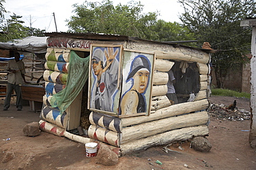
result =
[{"label": "large bushy green tree directly behind the shack's roof", "polygon": [[67,20],[69,32],[98,32],[144,39],[152,39],[156,35],[150,28],[156,23],[158,14],[141,14],[143,5],[140,2],[131,1],[125,6],[113,6],[109,0],[102,3],[85,1],[73,7],[76,15]]}]

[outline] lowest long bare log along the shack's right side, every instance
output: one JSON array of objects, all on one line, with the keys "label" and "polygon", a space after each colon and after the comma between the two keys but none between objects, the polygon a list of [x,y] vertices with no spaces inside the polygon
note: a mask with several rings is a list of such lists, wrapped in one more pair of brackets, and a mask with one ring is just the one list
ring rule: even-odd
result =
[{"label": "lowest long bare log along the shack's right side", "polygon": [[121,155],[127,153],[145,150],[149,147],[157,145],[170,144],[176,141],[188,140],[196,136],[208,135],[208,126],[194,126],[173,131],[167,131],[157,135],[152,135],[148,138],[134,140],[120,145]]}]

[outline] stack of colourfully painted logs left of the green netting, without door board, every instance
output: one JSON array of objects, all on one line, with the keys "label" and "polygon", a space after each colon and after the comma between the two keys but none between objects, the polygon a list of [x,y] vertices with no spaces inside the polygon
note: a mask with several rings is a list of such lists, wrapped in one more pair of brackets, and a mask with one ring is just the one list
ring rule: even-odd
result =
[{"label": "stack of colourfully painted logs left of the green netting, without door board", "polygon": [[63,129],[67,128],[68,117],[66,112],[60,113],[58,108],[51,107],[51,97],[62,91],[66,87],[68,77],[68,61],[70,50],[48,48],[46,53],[46,63],[44,71],[44,80],[46,81],[46,95],[43,97],[44,108],[41,111],[41,117]]}]

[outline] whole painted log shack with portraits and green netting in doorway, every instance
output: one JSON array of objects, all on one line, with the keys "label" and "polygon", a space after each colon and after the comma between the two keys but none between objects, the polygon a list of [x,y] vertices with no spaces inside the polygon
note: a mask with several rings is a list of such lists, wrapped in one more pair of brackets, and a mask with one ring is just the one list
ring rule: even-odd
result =
[{"label": "whole painted log shack with portraits and green netting in doorway", "polygon": [[[46,36],[41,129],[121,155],[208,135],[210,50],[121,35]],[[170,70],[176,103],[166,96]],[[78,127],[87,134],[74,134]]]}]

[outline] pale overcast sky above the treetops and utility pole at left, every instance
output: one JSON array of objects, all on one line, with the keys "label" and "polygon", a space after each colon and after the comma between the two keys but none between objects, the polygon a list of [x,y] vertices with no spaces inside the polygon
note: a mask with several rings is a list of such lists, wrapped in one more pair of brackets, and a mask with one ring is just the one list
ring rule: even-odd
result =
[{"label": "pale overcast sky above the treetops and utility pole at left", "polygon": [[[98,0],[91,0],[95,2]],[[112,0],[114,6],[118,3],[126,5],[130,0]],[[136,1],[136,0],[135,0]],[[140,3],[144,5],[143,12],[156,12],[158,11],[161,16],[158,19],[163,19],[170,22],[181,22],[178,15],[181,14],[183,9],[181,4],[176,2],[177,0],[140,0]],[[22,20],[25,21],[25,26],[30,26],[32,23],[33,28],[44,29],[46,32],[56,32],[55,22],[53,19],[53,12],[55,13],[55,20],[58,32],[65,32],[68,30],[65,20],[70,19],[72,15],[75,15],[72,11],[75,9],[72,7],[74,3],[81,5],[84,0],[6,0],[3,6],[6,10],[10,11],[10,14],[22,16]],[[99,2],[102,2],[100,0]],[[10,15],[9,14],[9,15]],[[6,19],[10,18],[6,15]]]}]

